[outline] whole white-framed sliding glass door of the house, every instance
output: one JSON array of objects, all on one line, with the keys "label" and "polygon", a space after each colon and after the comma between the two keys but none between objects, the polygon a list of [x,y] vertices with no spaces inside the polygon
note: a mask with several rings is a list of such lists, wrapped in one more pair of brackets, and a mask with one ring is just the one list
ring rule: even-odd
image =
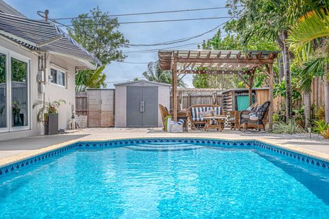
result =
[{"label": "whole white-framed sliding glass door of the house", "polygon": [[31,60],[0,48],[0,132],[30,129]]}]

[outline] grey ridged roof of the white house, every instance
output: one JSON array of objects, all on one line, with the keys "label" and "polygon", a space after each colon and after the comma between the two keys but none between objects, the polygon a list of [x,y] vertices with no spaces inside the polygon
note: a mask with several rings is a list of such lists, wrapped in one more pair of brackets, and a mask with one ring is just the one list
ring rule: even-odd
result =
[{"label": "grey ridged roof of the white house", "polygon": [[32,51],[47,51],[73,57],[85,64],[101,64],[96,57],[51,22],[0,13],[0,35]]}]

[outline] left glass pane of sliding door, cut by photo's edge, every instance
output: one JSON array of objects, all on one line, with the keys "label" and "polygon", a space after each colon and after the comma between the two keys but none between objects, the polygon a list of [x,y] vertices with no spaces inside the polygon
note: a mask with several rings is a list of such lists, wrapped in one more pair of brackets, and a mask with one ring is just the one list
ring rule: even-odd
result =
[{"label": "left glass pane of sliding door, cut by photo's edge", "polygon": [[0,53],[0,128],[7,127],[6,58],[7,55]]}]

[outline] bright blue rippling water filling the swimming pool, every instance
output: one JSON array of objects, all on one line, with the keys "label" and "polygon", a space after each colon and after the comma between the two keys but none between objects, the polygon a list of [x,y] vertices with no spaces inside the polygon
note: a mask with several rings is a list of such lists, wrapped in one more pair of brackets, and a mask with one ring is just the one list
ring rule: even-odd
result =
[{"label": "bright blue rippling water filling the swimming pool", "polygon": [[0,218],[329,218],[329,174],[254,149],[77,149],[1,177]]}]

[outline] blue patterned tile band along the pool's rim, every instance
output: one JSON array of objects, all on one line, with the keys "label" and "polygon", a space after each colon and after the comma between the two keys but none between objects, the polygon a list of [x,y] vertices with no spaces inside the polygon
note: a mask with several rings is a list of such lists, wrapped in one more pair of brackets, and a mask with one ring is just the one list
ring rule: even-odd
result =
[{"label": "blue patterned tile band along the pool's rim", "polygon": [[111,146],[126,146],[130,144],[138,143],[154,143],[154,142],[185,142],[185,143],[197,143],[197,144],[215,144],[217,146],[253,146],[259,149],[265,149],[278,153],[278,155],[285,155],[294,159],[298,159],[306,164],[311,164],[329,170],[329,162],[323,159],[318,159],[317,157],[312,157],[305,155],[300,151],[291,151],[291,149],[282,149],[282,146],[269,144],[263,142],[262,140],[229,140],[229,139],[219,139],[219,138],[191,138],[191,137],[145,137],[145,138],[119,138],[114,140],[73,140],[69,142],[64,142],[62,144],[56,144],[49,146],[45,149],[40,149],[36,153],[31,153],[30,155],[21,155],[15,157],[9,157],[10,159],[5,160],[5,162],[0,161],[0,176],[8,174],[10,172],[15,172],[20,168],[25,168],[31,164],[41,162],[45,159],[51,157],[56,157],[61,153],[71,151],[73,149],[93,149],[93,148],[106,148]]}]

